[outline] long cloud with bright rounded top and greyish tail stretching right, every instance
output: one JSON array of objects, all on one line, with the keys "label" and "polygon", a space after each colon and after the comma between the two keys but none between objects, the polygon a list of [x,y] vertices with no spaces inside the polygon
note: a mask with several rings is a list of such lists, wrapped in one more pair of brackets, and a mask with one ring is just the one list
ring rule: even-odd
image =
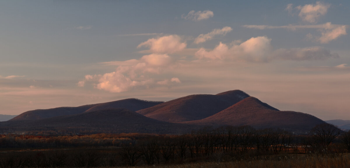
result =
[{"label": "long cloud with bright rounded top and greyish tail stretching right", "polygon": [[244,62],[270,62],[275,59],[304,61],[339,57],[338,54],[331,54],[330,50],[322,47],[273,50],[271,38],[266,36],[252,37],[239,45],[233,43],[232,46],[220,42],[211,51],[201,48],[195,56],[198,59]]}]

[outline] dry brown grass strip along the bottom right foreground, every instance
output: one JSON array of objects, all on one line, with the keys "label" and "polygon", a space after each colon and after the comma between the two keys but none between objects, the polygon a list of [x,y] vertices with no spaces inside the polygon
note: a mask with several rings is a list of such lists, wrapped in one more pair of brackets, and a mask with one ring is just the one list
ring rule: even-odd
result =
[{"label": "dry brown grass strip along the bottom right foreground", "polygon": [[287,160],[252,160],[234,162],[201,162],[182,165],[137,166],[132,168],[349,168],[350,155],[301,156]]}]

